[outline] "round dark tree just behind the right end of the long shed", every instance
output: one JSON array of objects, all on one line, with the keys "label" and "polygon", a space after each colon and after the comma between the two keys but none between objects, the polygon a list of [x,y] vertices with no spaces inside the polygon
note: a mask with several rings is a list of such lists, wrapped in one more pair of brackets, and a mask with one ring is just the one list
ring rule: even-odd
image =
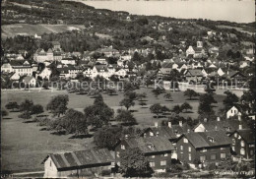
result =
[{"label": "round dark tree just behind the right end of the long shed", "polygon": [[113,149],[120,140],[121,127],[104,127],[96,131],[94,142],[98,148]]}]

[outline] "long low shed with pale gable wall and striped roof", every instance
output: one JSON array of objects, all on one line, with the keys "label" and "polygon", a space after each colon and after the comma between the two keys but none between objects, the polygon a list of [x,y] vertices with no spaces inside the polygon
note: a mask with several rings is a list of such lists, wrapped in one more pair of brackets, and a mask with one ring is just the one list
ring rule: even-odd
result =
[{"label": "long low shed with pale gable wall and striped roof", "polygon": [[114,157],[107,149],[85,149],[50,153],[42,161],[44,178],[81,177],[83,174],[101,174],[111,171]]}]

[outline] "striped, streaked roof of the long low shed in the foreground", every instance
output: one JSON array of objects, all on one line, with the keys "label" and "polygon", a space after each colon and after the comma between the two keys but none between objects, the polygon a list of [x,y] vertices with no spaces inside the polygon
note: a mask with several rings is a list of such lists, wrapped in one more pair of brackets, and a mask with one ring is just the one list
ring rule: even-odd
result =
[{"label": "striped, streaked roof of the long low shed in the foreground", "polygon": [[70,152],[51,153],[43,160],[45,162],[48,157],[57,167],[57,170],[71,170],[76,168],[87,168],[94,165],[114,162],[114,158],[107,149],[86,149]]}]

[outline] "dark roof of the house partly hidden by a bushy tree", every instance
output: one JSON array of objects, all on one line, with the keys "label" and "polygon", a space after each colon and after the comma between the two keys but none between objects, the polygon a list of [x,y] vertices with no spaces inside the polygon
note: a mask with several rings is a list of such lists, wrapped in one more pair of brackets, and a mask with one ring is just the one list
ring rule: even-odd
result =
[{"label": "dark roof of the house partly hidden by a bushy tree", "polygon": [[144,153],[169,151],[174,149],[166,138],[156,136],[149,138],[130,138],[124,141],[131,149],[139,148]]}]

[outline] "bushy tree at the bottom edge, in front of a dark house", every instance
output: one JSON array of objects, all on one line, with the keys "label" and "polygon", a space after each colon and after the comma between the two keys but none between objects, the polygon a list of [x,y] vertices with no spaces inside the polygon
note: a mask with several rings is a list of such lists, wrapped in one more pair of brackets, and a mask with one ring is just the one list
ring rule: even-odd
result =
[{"label": "bushy tree at the bottom edge, in front of a dark house", "polygon": [[125,177],[151,177],[150,167],[144,153],[138,149],[125,149],[120,153],[120,172]]}]

